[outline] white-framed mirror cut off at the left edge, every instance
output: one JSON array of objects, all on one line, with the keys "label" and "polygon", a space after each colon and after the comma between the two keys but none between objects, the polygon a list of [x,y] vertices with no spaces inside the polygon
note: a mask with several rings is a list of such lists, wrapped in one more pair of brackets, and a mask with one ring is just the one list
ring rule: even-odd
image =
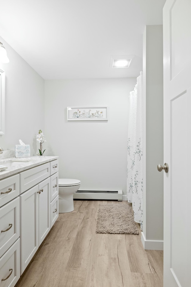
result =
[{"label": "white-framed mirror cut off at the left edge", "polygon": [[0,69],[0,135],[4,135],[5,126],[5,72]]}]

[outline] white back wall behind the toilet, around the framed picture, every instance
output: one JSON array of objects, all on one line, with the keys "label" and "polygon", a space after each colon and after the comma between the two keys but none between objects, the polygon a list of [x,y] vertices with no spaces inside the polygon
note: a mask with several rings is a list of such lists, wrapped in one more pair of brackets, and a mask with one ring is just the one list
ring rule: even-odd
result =
[{"label": "white back wall behind the toilet, around the framed picture", "polygon": [[[45,80],[48,155],[59,156],[59,177],[81,189],[127,188],[129,93],[135,78]],[[67,106],[108,106],[108,121],[67,121]]]}]

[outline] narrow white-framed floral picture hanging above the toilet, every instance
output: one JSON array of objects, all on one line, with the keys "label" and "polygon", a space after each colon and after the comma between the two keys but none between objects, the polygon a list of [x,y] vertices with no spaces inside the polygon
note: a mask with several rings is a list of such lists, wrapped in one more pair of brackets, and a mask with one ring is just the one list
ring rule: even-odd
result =
[{"label": "narrow white-framed floral picture hanging above the toilet", "polygon": [[67,107],[67,120],[108,120],[108,107]]}]

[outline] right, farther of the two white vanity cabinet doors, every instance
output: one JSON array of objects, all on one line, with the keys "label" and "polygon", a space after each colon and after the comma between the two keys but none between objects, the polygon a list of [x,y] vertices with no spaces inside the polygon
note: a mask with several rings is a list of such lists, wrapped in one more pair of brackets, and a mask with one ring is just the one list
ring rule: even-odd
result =
[{"label": "right, farther of the two white vanity cabinet doors", "polygon": [[38,184],[39,245],[50,231],[50,178]]}]

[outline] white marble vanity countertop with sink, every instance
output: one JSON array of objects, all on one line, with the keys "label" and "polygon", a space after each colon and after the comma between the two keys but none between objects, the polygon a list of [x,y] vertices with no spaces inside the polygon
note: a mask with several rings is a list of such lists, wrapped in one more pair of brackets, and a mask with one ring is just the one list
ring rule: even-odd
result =
[{"label": "white marble vanity countertop with sink", "polygon": [[[0,179],[8,177],[10,175],[16,174],[18,172],[28,170],[32,167],[37,167],[38,165],[45,164],[46,162],[58,159],[58,156],[31,156],[27,158],[3,158],[0,159],[0,165],[6,166],[7,170],[0,171]],[[23,160],[23,161],[22,161]],[[13,164],[11,164],[11,162]]]}]

